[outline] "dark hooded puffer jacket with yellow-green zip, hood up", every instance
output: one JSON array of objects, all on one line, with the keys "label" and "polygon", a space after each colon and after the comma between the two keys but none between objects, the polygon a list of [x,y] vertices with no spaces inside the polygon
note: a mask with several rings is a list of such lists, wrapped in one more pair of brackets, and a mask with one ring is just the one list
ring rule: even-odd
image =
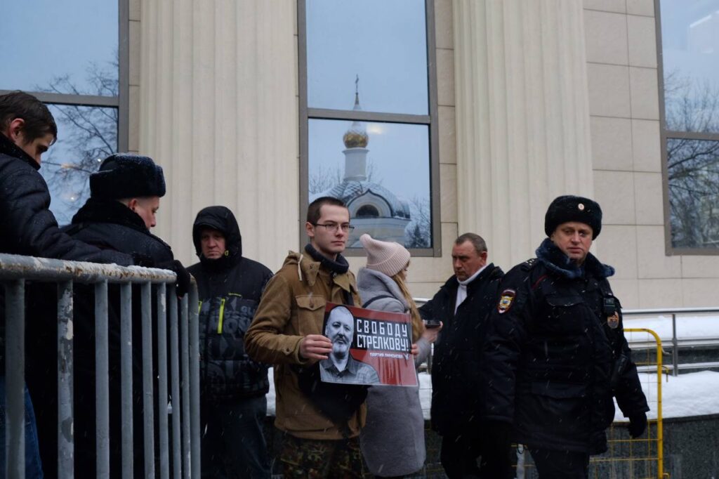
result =
[{"label": "dark hooded puffer jacket with yellow-green zip, hood up", "polygon": [[[204,227],[225,237],[225,255],[202,255]],[[261,396],[270,389],[267,365],[251,360],[244,350],[244,333],[255,316],[260,296],[272,272],[242,257],[242,237],[232,211],[224,206],[201,210],[192,232],[200,263],[188,268],[196,278],[200,298],[202,400],[214,403]]]}]

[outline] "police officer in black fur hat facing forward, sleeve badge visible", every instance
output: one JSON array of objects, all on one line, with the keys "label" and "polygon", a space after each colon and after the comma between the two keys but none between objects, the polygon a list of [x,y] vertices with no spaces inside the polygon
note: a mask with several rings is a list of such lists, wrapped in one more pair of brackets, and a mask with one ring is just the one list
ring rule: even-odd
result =
[{"label": "police officer in black fur hat facing forward, sleeve badge visible", "polygon": [[649,407],[624,337],[614,274],[589,252],[600,206],[559,196],[544,219],[536,258],[510,270],[483,347],[484,419],[505,450],[526,444],[540,478],[587,478],[590,455],[607,450],[612,396],[646,429]]}]

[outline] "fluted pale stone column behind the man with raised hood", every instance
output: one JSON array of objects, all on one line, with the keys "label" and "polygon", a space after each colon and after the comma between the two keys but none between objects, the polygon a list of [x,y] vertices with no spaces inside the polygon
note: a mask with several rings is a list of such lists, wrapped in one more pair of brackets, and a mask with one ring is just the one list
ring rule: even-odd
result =
[{"label": "fluted pale stone column behind the man with raised hood", "polygon": [[293,0],[142,1],[139,151],[165,170],[157,232],[196,260],[193,219],[228,206],[272,269],[298,238]]}]

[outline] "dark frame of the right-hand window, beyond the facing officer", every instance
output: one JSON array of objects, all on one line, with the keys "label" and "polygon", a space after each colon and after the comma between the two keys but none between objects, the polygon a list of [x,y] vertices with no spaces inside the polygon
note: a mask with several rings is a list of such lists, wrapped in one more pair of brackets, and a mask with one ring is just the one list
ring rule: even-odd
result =
[{"label": "dark frame of the right-hand window, beyond the facing officer", "polygon": [[664,249],[667,256],[696,255],[717,256],[719,247],[687,248],[672,245],[672,211],[669,205],[669,168],[667,165],[667,144],[669,140],[708,140],[719,142],[719,132],[683,132],[667,129],[666,105],[664,102],[664,50],[661,33],[661,0],[654,0],[654,22],[656,29],[656,74],[659,80],[659,141],[661,142],[661,186],[664,200]]}]

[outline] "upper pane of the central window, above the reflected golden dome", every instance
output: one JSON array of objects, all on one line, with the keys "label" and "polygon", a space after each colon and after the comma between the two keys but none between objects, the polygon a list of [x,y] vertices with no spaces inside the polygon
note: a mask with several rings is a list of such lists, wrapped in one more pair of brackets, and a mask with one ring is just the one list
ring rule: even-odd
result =
[{"label": "upper pane of the central window, above the reflected golden dome", "polygon": [[424,0],[307,0],[307,105],[428,114]]}]

